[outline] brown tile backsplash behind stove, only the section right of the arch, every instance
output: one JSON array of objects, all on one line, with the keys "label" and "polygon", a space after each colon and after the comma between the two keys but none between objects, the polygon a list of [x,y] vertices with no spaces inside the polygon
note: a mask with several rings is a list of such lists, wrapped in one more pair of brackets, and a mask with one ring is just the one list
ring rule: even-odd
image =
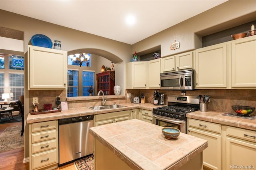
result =
[{"label": "brown tile backsplash behind stove, only the section right of the arch", "polygon": [[[147,103],[153,103],[154,89],[126,89],[125,96],[127,93],[131,94],[131,98],[127,98],[126,102],[132,103],[132,98],[139,97],[140,94],[144,94]],[[159,90],[160,93],[168,95],[180,95],[181,90]],[[234,112],[232,110],[233,105],[252,106],[256,107],[256,90],[214,90],[214,89],[203,89],[186,91],[187,96],[198,96],[201,94],[210,95],[211,100],[208,103],[208,110],[216,112]],[[166,102],[166,97],[165,97]],[[165,103],[167,104],[167,103]],[[256,111],[252,113],[255,114]]]}]

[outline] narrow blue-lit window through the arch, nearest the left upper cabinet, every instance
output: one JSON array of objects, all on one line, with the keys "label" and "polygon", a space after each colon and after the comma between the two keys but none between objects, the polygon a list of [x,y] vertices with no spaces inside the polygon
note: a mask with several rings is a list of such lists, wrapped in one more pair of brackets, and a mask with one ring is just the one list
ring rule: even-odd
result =
[{"label": "narrow blue-lit window through the arch, nearest the left upper cabinet", "polygon": [[68,97],[78,96],[78,71],[68,70]]}]

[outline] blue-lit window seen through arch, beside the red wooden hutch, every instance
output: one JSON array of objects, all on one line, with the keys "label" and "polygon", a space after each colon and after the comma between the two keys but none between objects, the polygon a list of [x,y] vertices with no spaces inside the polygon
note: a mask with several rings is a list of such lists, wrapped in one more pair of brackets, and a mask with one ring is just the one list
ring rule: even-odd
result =
[{"label": "blue-lit window seen through arch, beside the red wooden hutch", "polygon": [[[90,86],[94,87],[94,72],[83,71],[83,96],[89,96],[88,89]],[[94,95],[93,92],[92,95]]]}]

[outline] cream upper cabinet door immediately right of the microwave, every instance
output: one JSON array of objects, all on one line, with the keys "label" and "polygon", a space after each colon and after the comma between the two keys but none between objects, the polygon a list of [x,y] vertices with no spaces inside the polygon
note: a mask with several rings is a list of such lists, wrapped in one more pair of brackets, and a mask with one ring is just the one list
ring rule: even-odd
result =
[{"label": "cream upper cabinet door immediately right of the microwave", "polygon": [[[196,50],[196,88],[227,88],[230,43]],[[229,60],[230,61],[230,60]]]}]

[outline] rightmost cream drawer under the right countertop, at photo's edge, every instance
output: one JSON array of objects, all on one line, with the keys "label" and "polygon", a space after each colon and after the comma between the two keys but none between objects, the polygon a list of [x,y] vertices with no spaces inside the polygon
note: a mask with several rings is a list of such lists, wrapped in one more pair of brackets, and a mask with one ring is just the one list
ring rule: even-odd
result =
[{"label": "rightmost cream drawer under the right countertop, at photo's edge", "polygon": [[246,130],[246,129],[227,126],[226,135],[256,142],[256,131],[253,131],[253,130]]}]

